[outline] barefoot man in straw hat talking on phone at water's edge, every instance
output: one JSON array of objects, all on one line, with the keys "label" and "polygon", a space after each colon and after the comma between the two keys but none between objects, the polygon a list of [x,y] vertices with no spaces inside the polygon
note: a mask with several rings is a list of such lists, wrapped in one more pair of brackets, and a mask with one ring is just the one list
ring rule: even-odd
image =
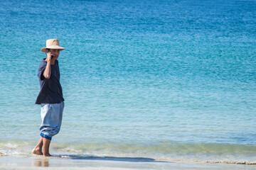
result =
[{"label": "barefoot man in straw hat talking on phone at water's edge", "polygon": [[64,98],[58,67],[58,57],[61,50],[65,50],[65,48],[60,47],[58,39],[47,40],[46,47],[41,49],[47,55],[38,69],[41,90],[36,99],[36,104],[41,105],[41,139],[32,153],[43,155],[44,157],[51,156],[49,153],[50,141],[60,131],[63,117]]}]

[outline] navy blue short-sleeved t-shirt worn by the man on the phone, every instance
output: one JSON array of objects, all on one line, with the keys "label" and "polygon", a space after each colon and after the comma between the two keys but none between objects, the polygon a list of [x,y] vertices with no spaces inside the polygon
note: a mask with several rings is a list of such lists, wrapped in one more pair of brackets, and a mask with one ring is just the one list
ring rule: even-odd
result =
[{"label": "navy blue short-sleeved t-shirt worn by the man on the phone", "polygon": [[61,103],[64,101],[62,87],[60,85],[60,69],[58,60],[55,60],[54,65],[50,65],[50,79],[43,77],[43,72],[46,69],[47,62],[43,59],[39,65],[38,78],[40,84],[40,92],[36,98],[36,104],[41,103]]}]

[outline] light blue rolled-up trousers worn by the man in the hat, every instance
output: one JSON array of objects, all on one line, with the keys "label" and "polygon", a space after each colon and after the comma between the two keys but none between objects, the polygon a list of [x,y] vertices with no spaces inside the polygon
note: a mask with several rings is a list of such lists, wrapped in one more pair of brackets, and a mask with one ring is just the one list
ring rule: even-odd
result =
[{"label": "light blue rolled-up trousers worn by the man in the hat", "polygon": [[63,118],[64,102],[41,104],[42,124],[40,126],[41,137],[48,140],[60,132],[60,126]]}]

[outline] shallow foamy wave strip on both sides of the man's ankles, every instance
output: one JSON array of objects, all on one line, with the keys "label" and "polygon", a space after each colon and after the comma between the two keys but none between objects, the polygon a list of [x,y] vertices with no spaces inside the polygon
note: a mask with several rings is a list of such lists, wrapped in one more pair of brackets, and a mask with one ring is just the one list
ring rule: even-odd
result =
[{"label": "shallow foamy wave strip on both sides of the man's ankles", "polygon": [[[0,142],[0,156],[31,157],[34,145],[28,142]],[[53,143],[51,154],[63,159],[102,159],[128,162],[201,162],[251,164],[256,162],[256,146],[228,144],[159,143]]]}]

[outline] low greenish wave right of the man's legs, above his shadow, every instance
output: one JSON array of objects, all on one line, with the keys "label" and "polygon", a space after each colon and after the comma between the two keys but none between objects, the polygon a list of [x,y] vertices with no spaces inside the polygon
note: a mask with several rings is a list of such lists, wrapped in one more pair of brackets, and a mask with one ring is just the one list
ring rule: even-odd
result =
[{"label": "low greenish wave right of the man's legs, above his shadow", "polygon": [[158,143],[146,145],[130,145],[122,143],[63,143],[54,145],[55,149],[68,152],[110,152],[130,154],[208,154],[208,155],[254,155],[255,145],[229,145],[205,143]]}]

